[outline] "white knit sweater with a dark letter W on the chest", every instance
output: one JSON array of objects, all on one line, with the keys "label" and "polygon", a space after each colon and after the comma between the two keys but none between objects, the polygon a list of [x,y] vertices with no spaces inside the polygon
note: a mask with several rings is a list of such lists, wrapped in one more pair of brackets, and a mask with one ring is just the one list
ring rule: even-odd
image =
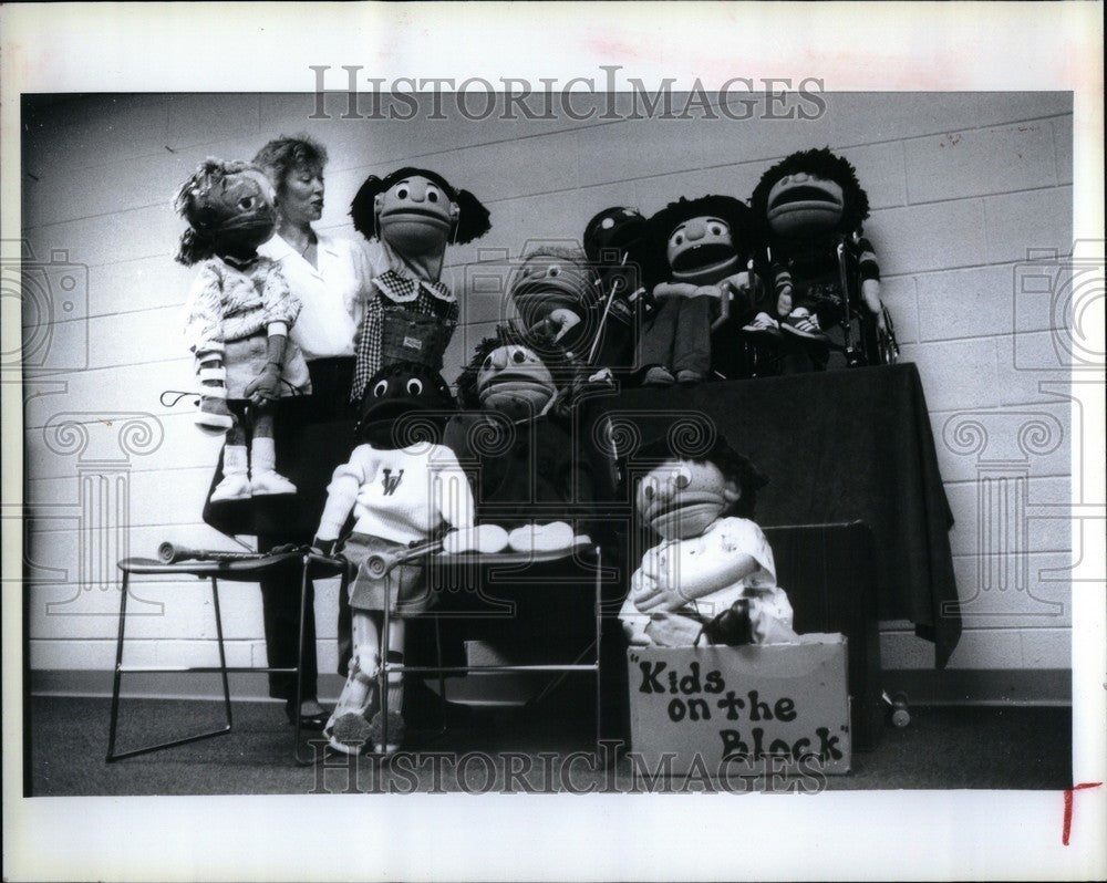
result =
[{"label": "white knit sweater with a dark letter W on the chest", "polygon": [[443,523],[473,526],[469,482],[442,445],[395,450],[359,445],[327,487],[319,539],[338,539],[351,509],[358,533],[400,543],[425,540]]}]

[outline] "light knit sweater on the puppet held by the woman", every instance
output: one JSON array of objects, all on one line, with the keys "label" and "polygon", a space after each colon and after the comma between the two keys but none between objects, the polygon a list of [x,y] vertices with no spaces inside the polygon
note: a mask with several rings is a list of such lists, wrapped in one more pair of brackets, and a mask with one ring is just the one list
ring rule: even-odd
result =
[{"label": "light knit sweater on the puppet held by the woman", "polygon": [[221,258],[208,258],[188,293],[185,337],[195,353],[219,353],[230,341],[252,336],[272,325],[288,333],[300,313],[300,301],[269,258],[246,269]]}]

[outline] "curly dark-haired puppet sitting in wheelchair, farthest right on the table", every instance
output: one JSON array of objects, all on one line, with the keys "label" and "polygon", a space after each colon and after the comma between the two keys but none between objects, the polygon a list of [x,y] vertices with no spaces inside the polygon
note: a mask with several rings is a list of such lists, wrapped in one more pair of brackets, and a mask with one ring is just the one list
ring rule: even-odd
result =
[{"label": "curly dark-haired puppet sitting in wheelchair, farthest right on the table", "polygon": [[[880,267],[862,236],[869,197],[853,166],[826,147],[794,153],[762,176],[752,202],[767,230],[776,316],[759,314],[744,330],[753,335],[784,332],[803,342],[821,368],[831,343],[827,331],[842,322],[859,293],[871,319],[862,329],[872,329],[865,357],[876,361],[875,339],[890,334],[890,322],[880,302]],[[844,284],[860,291],[844,290]],[[846,349],[850,364],[862,361],[849,337]]]}]

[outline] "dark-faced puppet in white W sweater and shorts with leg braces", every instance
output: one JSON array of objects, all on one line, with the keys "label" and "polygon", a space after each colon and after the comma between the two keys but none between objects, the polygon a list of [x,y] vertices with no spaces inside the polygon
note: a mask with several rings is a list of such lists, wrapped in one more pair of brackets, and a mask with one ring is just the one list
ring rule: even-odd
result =
[{"label": "dark-faced puppet in white W sweater and shorts with leg braces", "polygon": [[[358,436],[349,463],[334,470],[313,546],[332,554],[351,510],[353,532],[341,554],[356,568],[350,583],[353,657],[338,705],[324,727],[332,748],[359,754],[373,744],[396,751],[404,737],[403,679],[390,674],[389,744],[382,739],[376,678],[382,655],[402,663],[405,617],[424,612],[433,596],[424,569],[400,564],[385,578],[362,567],[373,554],[394,554],[425,541],[447,526],[473,523],[473,497],[454,453],[438,444],[455,405],[441,376],[425,365],[396,363],[373,375],[365,388]],[[417,419],[416,419],[417,418]],[[394,611],[389,645],[381,634],[384,605]]]}]

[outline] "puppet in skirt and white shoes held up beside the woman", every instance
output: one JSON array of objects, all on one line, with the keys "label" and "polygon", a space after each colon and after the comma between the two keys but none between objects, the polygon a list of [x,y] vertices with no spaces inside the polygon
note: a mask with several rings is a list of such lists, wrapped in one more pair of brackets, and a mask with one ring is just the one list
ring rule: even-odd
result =
[{"label": "puppet in skirt and white shoes held up beside the woman", "polygon": [[310,392],[311,381],[288,337],[300,302],[280,268],[257,251],[276,227],[273,199],[259,167],[208,158],[174,200],[189,225],[177,260],[200,264],[185,324],[199,382],[195,420],[227,436],[213,502],[296,492],[276,471],[272,403]]}]

